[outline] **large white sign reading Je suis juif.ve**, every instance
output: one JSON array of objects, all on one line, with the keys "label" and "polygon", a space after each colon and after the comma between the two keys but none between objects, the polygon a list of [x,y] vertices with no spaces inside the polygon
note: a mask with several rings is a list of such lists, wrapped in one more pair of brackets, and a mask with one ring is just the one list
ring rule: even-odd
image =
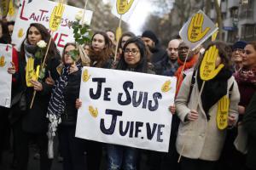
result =
[{"label": "large white sign reading Je suis juif.ve", "polygon": [[76,137],[167,152],[176,77],[84,67]]}]

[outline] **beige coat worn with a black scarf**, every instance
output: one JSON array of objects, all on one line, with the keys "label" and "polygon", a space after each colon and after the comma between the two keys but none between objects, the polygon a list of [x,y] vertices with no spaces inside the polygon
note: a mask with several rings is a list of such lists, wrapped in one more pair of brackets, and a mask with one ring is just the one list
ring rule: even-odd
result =
[{"label": "beige coat worn with a black scarf", "polygon": [[[181,150],[183,150],[182,156],[192,159],[217,161],[223,149],[226,136],[226,130],[219,130],[217,127],[216,115],[218,104],[212,105],[212,108],[209,110],[211,118],[207,122],[207,116],[202,109],[201,98],[199,97],[198,84],[195,81],[195,86],[192,90],[189,104],[187,105],[191,78],[192,73],[185,77],[175,101],[177,116],[181,120],[177,134],[177,152],[181,154]],[[234,86],[230,96],[229,114],[236,116],[237,120],[240,94],[234,77],[230,77],[228,80],[227,94],[233,82]],[[184,122],[184,118],[190,109],[198,111],[199,117],[194,122]]]}]

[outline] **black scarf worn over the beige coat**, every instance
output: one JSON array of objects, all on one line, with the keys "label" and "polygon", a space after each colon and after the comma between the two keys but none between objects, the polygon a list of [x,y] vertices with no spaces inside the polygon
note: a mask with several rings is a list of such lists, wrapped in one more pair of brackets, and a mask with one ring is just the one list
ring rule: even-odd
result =
[{"label": "black scarf worn over the beige coat", "polygon": [[[200,77],[200,71],[197,71],[197,83],[199,91],[201,91],[201,86],[203,81]],[[215,105],[219,99],[227,94],[228,80],[232,76],[232,72],[228,69],[222,69],[218,72],[218,75],[212,80],[205,82],[204,89],[201,94],[201,103],[203,110],[206,112],[207,120],[210,120],[208,111],[211,109],[212,105]]]}]

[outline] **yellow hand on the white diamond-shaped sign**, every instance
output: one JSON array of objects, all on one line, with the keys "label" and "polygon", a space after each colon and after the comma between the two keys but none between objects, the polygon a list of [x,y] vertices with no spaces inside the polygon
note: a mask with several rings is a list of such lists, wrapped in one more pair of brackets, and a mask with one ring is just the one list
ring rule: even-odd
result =
[{"label": "yellow hand on the white diamond-shaped sign", "polygon": [[202,31],[202,26],[204,24],[204,15],[197,13],[195,14],[189,24],[188,30],[188,40],[189,42],[198,42],[203,37],[206,36],[207,32],[211,30],[210,27],[207,27],[204,31]]}]

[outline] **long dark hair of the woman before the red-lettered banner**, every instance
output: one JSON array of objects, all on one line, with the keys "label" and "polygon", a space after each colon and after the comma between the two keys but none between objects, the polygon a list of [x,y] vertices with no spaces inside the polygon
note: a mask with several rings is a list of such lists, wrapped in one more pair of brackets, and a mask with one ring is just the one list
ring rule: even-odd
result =
[{"label": "long dark hair of the woman before the red-lettered banner", "polygon": [[[28,32],[30,30],[30,28],[34,26],[38,29],[38,31],[40,32],[41,36],[42,36],[42,40],[44,40],[44,42],[46,42],[47,44],[49,43],[49,39],[50,39],[50,34],[49,34],[49,31],[45,28],[45,26],[39,24],[39,23],[32,23],[27,31],[26,31],[26,39],[28,37]],[[26,41],[26,39],[22,42],[21,44],[21,48],[20,48],[20,54],[23,54],[23,56],[25,55],[25,52],[24,52],[24,42]],[[56,47],[56,44],[54,42],[53,39],[51,39],[51,42],[50,42],[50,45],[49,45],[49,52],[48,52],[48,55],[47,55],[47,59],[50,58],[59,58],[61,59],[61,55],[60,55],[60,52],[59,50],[57,49]]]}]

